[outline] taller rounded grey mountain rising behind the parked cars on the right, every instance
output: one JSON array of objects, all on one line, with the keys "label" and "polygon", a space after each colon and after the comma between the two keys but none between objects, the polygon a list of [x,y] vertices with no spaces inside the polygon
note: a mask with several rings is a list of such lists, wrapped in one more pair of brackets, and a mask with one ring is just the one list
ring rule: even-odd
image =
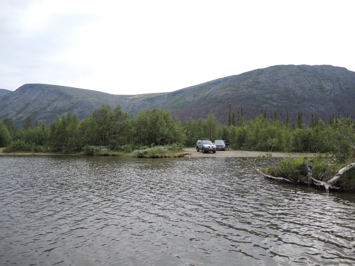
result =
[{"label": "taller rounded grey mountain rising behind the parked cars on the right", "polygon": [[[193,92],[200,96],[173,113],[182,120],[198,118],[212,109],[223,123],[228,120],[228,106],[237,116],[243,107],[246,120],[267,111],[268,117],[277,111],[285,121],[289,112],[291,122],[302,112],[305,122],[312,113],[328,121],[333,113],[355,118],[355,72],[329,65],[278,65],[216,79],[183,91],[185,97]],[[201,115],[203,114],[203,115]]]}]

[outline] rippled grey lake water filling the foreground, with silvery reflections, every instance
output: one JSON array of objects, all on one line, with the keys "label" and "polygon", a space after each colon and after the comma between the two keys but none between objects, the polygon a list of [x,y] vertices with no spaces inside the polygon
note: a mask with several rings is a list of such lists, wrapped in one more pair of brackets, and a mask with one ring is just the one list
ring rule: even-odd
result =
[{"label": "rippled grey lake water filling the foreground, with silvery reflections", "polygon": [[0,181],[2,265],[355,263],[354,195],[234,158],[2,155]]}]

